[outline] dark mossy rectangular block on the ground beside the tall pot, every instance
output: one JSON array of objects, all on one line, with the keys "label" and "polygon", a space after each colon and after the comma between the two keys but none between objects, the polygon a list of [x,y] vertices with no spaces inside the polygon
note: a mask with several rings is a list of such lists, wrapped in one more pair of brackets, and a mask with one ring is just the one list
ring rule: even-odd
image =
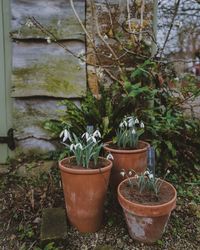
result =
[{"label": "dark mossy rectangular block on the ground beside the tall pot", "polygon": [[42,213],[40,240],[42,244],[65,240],[67,219],[63,208],[46,208]]}]

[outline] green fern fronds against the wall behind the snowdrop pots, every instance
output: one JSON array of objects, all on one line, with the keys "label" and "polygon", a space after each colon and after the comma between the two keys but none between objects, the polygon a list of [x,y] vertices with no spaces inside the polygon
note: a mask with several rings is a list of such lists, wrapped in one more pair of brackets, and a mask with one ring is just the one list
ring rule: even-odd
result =
[{"label": "green fern fronds against the wall behind the snowdrop pots", "polygon": [[88,91],[80,105],[65,100],[62,105],[66,109],[59,112],[60,118],[49,120],[44,126],[54,137],[58,138],[65,128],[70,128],[75,134],[81,135],[88,125],[92,125],[99,129],[104,140],[109,140],[120,120],[130,114],[134,106],[132,97],[122,96],[121,93],[120,86],[111,85],[107,88],[101,86],[99,98],[94,97]]}]

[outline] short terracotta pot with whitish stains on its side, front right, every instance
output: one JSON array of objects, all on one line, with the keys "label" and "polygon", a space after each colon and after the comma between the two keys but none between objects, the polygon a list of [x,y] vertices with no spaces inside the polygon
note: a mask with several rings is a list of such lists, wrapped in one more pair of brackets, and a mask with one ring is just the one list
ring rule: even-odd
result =
[{"label": "short terracotta pot with whitish stains on its side, front right", "polygon": [[163,181],[161,189],[165,194],[170,194],[170,200],[162,204],[143,205],[122,195],[123,185],[127,181],[124,180],[118,187],[118,201],[123,208],[129,234],[140,242],[154,243],[162,237],[171,211],[176,206],[176,190],[169,182]]}]

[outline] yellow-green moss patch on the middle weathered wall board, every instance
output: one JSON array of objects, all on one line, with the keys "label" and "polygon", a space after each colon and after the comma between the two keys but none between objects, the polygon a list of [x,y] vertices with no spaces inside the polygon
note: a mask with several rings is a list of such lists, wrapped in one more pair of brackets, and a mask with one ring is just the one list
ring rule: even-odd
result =
[{"label": "yellow-green moss patch on the middle weathered wall board", "polygon": [[[30,96],[35,91],[38,95],[80,96],[85,89],[85,81],[81,82],[85,72],[77,65],[77,61],[49,58],[47,62],[32,64],[31,67],[13,70],[13,82],[16,94]],[[31,93],[33,92],[33,93]]]}]

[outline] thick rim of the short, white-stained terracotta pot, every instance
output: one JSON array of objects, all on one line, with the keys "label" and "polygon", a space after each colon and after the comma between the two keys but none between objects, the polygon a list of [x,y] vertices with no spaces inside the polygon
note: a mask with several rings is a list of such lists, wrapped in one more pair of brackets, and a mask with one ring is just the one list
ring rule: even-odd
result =
[{"label": "thick rim of the short, white-stained terracotta pot", "polygon": [[[135,178],[136,177],[131,177],[130,179],[135,179]],[[128,212],[135,213],[139,216],[156,217],[156,216],[165,215],[168,213],[166,211],[171,211],[176,207],[177,191],[171,183],[165,180],[162,180],[174,192],[174,196],[170,201],[162,203],[162,204],[158,204],[158,205],[146,205],[146,204],[129,201],[121,194],[121,191],[120,191],[121,186],[123,185],[123,183],[127,181],[128,180],[125,179],[118,185],[117,193],[118,193],[118,200],[119,200],[120,205],[123,207],[123,209],[127,210]]]}]

